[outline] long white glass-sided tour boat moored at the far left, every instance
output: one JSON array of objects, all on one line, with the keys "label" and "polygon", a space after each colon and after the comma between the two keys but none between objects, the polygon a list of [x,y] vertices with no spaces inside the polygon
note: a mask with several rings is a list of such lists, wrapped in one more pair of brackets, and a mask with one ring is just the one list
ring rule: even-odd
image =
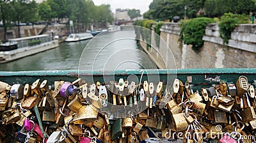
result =
[{"label": "long white glass-sided tour boat moored at the far left", "polygon": [[7,43],[0,44],[0,63],[54,49],[58,46],[58,40],[52,40],[52,36],[49,34],[10,39]]}]

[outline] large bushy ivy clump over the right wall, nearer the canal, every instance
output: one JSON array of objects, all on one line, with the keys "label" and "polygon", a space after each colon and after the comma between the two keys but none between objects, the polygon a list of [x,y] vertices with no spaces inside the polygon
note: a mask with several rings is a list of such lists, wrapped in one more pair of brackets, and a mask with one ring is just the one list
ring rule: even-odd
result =
[{"label": "large bushy ivy clump over the right wall, nearer the canal", "polygon": [[211,18],[199,17],[191,20],[184,20],[180,24],[180,38],[185,44],[191,44],[195,52],[199,52],[204,45],[202,40],[207,24],[214,22]]}]

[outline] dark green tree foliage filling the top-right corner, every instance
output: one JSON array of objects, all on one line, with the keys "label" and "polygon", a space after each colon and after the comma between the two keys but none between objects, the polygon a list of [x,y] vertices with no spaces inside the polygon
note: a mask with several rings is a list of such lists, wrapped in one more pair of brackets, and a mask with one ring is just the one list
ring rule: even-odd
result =
[{"label": "dark green tree foliage filling the top-right corner", "polygon": [[248,15],[256,10],[254,0],[205,0],[204,8],[208,17],[220,17],[228,12]]}]

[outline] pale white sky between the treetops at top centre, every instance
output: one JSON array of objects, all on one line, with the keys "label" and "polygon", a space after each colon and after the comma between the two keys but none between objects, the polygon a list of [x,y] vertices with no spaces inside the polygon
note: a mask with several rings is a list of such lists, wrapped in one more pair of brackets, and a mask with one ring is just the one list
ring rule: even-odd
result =
[{"label": "pale white sky between the treetops at top centre", "polygon": [[148,6],[153,0],[93,0],[95,5],[110,4],[111,11],[115,13],[116,8],[132,9],[141,11],[141,15],[148,11]]}]

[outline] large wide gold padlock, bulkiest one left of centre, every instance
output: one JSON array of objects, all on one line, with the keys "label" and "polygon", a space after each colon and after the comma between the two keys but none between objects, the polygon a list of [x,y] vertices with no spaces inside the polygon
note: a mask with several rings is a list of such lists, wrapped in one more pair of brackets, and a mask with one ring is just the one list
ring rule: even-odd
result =
[{"label": "large wide gold padlock, bulkiest one left of centre", "polygon": [[93,109],[92,105],[82,106],[74,116],[73,121],[83,120],[85,123],[95,121],[97,119],[98,112]]}]

